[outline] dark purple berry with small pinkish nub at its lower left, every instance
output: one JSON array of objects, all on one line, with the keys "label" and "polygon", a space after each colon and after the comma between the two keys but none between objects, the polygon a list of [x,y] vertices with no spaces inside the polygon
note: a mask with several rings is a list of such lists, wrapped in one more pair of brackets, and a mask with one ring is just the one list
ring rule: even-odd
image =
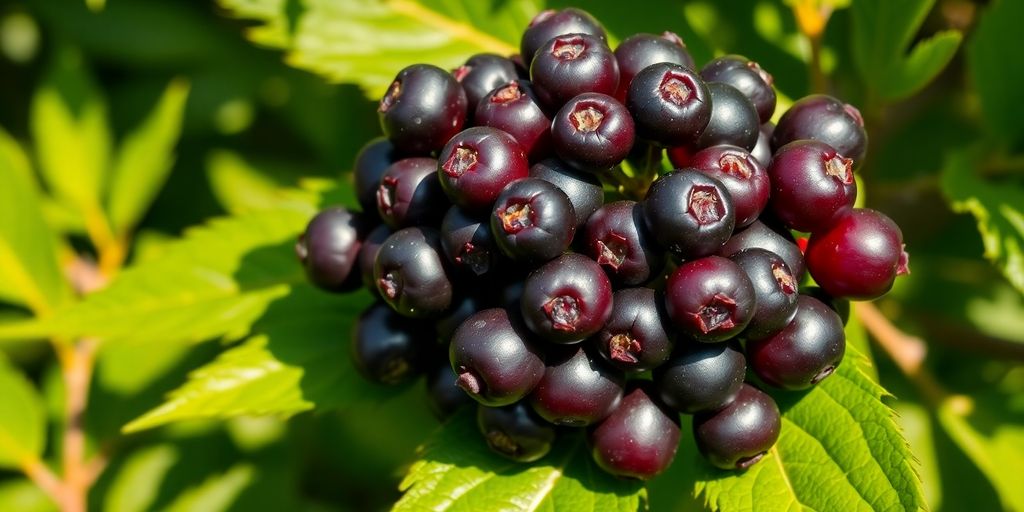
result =
[{"label": "dark purple berry with small pinkish nub at its lower left", "polygon": [[456,329],[449,346],[456,383],[484,406],[508,406],[544,377],[534,334],[501,308],[477,311]]}]

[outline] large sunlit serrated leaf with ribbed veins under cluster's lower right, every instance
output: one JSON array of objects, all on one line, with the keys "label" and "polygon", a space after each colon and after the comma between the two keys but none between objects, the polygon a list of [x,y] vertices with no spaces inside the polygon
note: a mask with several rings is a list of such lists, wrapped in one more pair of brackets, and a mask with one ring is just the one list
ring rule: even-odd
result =
[{"label": "large sunlit serrated leaf with ribbed veins under cluster's lower right", "polygon": [[921,509],[913,456],[864,364],[847,345],[844,362],[818,386],[773,393],[783,412],[781,435],[746,471],[714,469],[702,460],[676,464],[697,466],[695,488],[713,510]]}]

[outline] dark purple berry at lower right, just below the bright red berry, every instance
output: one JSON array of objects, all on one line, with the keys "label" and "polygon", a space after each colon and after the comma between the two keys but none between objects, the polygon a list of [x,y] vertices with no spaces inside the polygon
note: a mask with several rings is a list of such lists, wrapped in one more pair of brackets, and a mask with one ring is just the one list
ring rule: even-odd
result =
[{"label": "dark purple berry at lower right, just below the bright red berry", "polygon": [[767,384],[807,389],[831,375],[846,353],[843,319],[821,301],[801,295],[797,314],[781,331],[746,342],[746,358]]}]

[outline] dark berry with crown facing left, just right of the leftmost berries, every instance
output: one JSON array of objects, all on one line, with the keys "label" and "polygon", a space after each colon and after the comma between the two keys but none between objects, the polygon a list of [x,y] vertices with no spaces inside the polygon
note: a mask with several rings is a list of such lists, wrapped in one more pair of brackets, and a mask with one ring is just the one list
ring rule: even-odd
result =
[{"label": "dark berry with crown facing left, just right of the leftmost berries", "polygon": [[374,264],[377,291],[406,316],[436,316],[452,305],[452,281],[432,227],[407,227],[381,244]]}]

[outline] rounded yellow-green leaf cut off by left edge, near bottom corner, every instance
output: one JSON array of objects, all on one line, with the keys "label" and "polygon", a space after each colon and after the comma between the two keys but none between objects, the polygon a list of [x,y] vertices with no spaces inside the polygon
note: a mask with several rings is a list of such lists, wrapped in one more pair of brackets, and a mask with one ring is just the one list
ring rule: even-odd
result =
[{"label": "rounded yellow-green leaf cut off by left edge, near bottom corner", "polygon": [[32,383],[0,358],[0,468],[38,462],[46,442],[46,416]]}]

